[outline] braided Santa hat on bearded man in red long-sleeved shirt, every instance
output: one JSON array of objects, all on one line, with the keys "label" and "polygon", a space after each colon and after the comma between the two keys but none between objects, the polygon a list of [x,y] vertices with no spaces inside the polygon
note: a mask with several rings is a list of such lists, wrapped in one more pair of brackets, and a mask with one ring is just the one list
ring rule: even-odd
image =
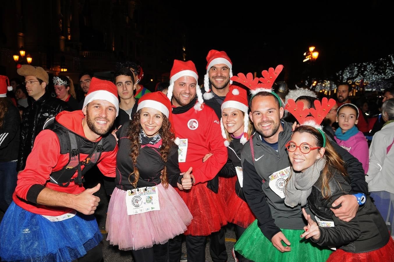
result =
[{"label": "braided Santa hat on bearded man in red long-sleeved shirt", "polygon": [[[192,61],[184,62],[180,60],[174,60],[174,65],[170,72],[170,85],[168,86],[167,91],[167,97],[170,101],[174,91],[174,82],[182,76],[192,76],[195,78],[196,82],[198,81],[197,69]],[[198,102],[194,105],[194,109],[200,111],[203,109],[204,99],[198,84],[196,86],[196,93]]]}]

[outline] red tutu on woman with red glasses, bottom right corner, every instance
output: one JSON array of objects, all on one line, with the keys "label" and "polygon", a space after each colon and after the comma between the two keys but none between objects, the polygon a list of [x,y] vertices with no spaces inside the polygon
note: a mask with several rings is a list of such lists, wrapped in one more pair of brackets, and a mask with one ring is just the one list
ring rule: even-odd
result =
[{"label": "red tutu on woman with red glasses, bottom right corner", "polygon": [[394,262],[394,241],[390,236],[388,243],[374,251],[366,253],[350,253],[343,251],[342,249],[337,249],[333,252],[327,262],[374,262],[374,261],[384,261],[384,262]]}]

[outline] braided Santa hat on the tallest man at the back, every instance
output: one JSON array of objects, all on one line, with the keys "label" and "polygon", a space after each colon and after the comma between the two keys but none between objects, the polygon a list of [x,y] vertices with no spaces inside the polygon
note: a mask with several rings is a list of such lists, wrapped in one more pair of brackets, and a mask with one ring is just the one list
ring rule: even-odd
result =
[{"label": "braided Santa hat on the tallest man at the back", "polygon": [[[209,89],[209,69],[216,65],[216,64],[225,64],[229,67],[230,69],[230,78],[232,77],[232,62],[227,56],[226,52],[224,51],[217,51],[217,50],[210,50],[208,52],[208,55],[206,56],[206,61],[208,62],[206,64],[206,74],[204,76],[204,99],[209,100],[212,97],[214,97],[214,94],[212,94],[211,89]],[[230,84],[232,84],[232,80],[230,80]]]}]

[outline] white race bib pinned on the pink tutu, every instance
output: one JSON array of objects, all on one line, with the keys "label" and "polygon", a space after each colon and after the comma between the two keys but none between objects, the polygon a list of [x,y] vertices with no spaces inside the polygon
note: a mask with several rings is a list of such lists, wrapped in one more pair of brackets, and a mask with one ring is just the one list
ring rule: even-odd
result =
[{"label": "white race bib pinned on the pink tutu", "polygon": [[156,186],[136,188],[126,192],[127,215],[160,210],[159,191]]}]

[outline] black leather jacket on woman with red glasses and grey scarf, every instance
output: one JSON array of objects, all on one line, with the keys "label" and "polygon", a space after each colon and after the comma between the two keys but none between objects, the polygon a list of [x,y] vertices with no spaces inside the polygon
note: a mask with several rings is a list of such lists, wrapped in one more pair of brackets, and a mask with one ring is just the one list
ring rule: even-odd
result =
[{"label": "black leather jacket on woman with red glasses and grey scarf", "polygon": [[333,208],[332,204],[338,197],[347,195],[351,190],[349,177],[342,176],[337,170],[334,171],[335,175],[329,181],[330,198],[323,198],[320,176],[312,187],[308,204],[313,214],[321,220],[334,221],[335,227],[319,227],[319,240],[310,240],[322,246],[336,246],[352,253],[369,252],[386,245],[390,237],[387,226],[370,197],[367,197],[364,205],[359,206],[356,216],[349,222],[339,220],[329,209]]}]

